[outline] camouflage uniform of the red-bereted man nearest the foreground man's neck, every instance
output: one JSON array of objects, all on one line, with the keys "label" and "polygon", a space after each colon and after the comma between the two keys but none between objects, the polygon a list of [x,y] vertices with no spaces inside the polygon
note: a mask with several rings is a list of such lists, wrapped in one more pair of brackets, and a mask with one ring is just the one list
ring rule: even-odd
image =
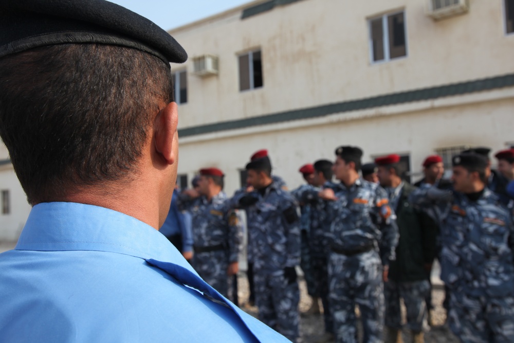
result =
[{"label": "camouflage uniform of the red-bereted man nearest the foreground man's neck", "polygon": [[219,192],[207,201],[200,196],[180,200],[180,207],[192,216],[195,253],[192,265],[209,285],[223,296],[229,293],[228,265],[237,262],[242,241],[242,227],[229,206],[227,196]]}]

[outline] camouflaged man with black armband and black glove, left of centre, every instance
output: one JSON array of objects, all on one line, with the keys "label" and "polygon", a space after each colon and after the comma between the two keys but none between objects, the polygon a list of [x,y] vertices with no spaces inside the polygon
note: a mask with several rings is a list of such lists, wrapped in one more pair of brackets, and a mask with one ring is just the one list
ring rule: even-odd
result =
[{"label": "camouflaged man with black armband and black glove, left of centre", "polygon": [[293,197],[273,182],[267,151],[254,154],[246,170],[253,190],[236,193],[232,202],[246,209],[259,318],[295,342],[300,300],[295,270],[300,263],[297,206]]}]

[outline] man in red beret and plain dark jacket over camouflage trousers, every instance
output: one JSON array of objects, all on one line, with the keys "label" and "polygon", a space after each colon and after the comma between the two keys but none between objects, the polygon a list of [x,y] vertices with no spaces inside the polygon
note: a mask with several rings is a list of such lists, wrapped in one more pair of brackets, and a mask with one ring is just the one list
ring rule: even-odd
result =
[{"label": "man in red beret and plain dark jacket over camouflage trousers", "polygon": [[399,231],[396,260],[391,261],[389,280],[384,283],[386,343],[402,341],[400,298],[407,310],[411,342],[423,343],[423,322],[428,314],[425,299],[430,292],[426,271],[432,268],[435,256],[437,226],[409,203],[409,195],[416,187],[401,179],[403,167],[399,162],[396,154],[375,159],[380,186],[388,192]]}]

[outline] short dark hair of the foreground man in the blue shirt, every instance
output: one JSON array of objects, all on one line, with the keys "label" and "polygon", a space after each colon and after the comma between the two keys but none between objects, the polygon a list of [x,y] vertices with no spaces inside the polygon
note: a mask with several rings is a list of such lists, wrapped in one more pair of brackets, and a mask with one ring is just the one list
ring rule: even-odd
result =
[{"label": "short dark hair of the foreground man in the blue shirt", "polygon": [[0,59],[0,136],[30,204],[88,185],[130,182],[169,67],[112,45],[61,44]]}]

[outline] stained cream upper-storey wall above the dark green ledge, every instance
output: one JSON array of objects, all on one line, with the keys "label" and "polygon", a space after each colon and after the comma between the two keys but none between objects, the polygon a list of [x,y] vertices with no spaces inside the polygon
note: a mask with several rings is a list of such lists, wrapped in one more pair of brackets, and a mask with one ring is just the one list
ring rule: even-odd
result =
[{"label": "stained cream upper-storey wall above the dark green ledge", "polygon": [[[218,76],[188,74],[180,128],[512,73],[502,1],[469,3],[468,13],[435,22],[424,0],[303,0],[172,30],[190,57],[219,57]],[[405,10],[408,55],[372,64],[368,19],[397,10]],[[264,86],[240,92],[237,55],[255,48]],[[191,72],[192,61],[172,67]]]}]

